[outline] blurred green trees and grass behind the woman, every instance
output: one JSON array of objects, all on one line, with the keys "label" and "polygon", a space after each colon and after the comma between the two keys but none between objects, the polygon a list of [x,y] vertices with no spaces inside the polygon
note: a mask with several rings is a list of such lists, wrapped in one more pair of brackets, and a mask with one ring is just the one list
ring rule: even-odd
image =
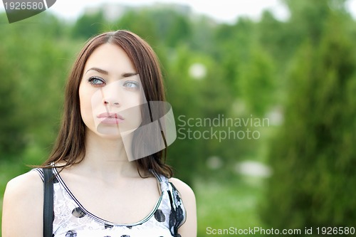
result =
[{"label": "blurred green trees and grass behind the woman", "polygon": [[342,0],[283,2],[286,21],[265,11],[231,24],[174,5],[116,19],[100,8],[75,21],[0,14],[0,206],[7,181],[51,150],[76,53],[128,29],[162,63],[177,126],[167,162],[195,191],[198,236],[355,228],[356,22]]}]

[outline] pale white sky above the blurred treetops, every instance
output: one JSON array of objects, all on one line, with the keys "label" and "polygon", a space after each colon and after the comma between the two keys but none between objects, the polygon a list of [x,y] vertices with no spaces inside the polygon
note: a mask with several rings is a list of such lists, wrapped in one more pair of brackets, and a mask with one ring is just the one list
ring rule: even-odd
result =
[{"label": "pale white sky above the blurred treetops", "polygon": [[[75,19],[86,7],[115,3],[127,6],[145,6],[154,3],[187,4],[197,14],[206,14],[219,22],[234,23],[239,16],[259,19],[264,9],[273,12],[277,19],[288,19],[289,13],[281,0],[57,0],[48,11],[64,19]],[[356,16],[356,0],[348,0],[347,8]],[[4,5],[0,4],[0,11]]]}]

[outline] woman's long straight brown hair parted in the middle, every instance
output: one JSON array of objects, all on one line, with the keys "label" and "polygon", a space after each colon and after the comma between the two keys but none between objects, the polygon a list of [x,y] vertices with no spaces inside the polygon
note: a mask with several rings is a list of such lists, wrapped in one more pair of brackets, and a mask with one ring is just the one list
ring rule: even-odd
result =
[{"label": "woman's long straight brown hair parted in the middle", "polygon": [[[142,80],[142,87],[149,101],[164,101],[164,86],[159,60],[151,46],[140,36],[130,31],[102,33],[90,38],[80,51],[66,84],[64,111],[56,144],[41,167],[64,161],[63,168],[78,164],[85,157],[85,125],[80,115],[79,85],[83,77],[86,61],[95,48],[112,43],[122,48],[134,64]],[[172,177],[172,168],[165,164],[167,149],[136,159],[137,171],[147,172],[152,169],[157,174]],[[141,174],[140,174],[141,175]]]}]

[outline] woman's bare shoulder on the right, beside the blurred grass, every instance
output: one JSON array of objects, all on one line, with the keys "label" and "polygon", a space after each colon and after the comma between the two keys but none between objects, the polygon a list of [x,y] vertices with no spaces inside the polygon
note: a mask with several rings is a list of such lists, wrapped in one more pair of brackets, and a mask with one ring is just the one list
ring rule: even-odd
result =
[{"label": "woman's bare shoulder on the right, beside the blurred grass", "polygon": [[185,237],[197,237],[197,204],[194,191],[184,181],[171,178],[169,181],[177,188],[187,211],[187,219],[179,227],[178,233]]}]

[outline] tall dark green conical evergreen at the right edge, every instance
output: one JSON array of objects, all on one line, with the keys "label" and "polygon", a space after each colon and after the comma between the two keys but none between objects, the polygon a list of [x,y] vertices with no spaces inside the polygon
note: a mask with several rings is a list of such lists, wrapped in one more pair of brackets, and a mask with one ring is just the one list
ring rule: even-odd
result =
[{"label": "tall dark green conical evergreen at the right edge", "polygon": [[[303,44],[290,72],[265,221],[275,228],[352,226],[356,164],[355,46],[330,14],[318,46]],[[312,43],[313,42],[313,43]]]}]

